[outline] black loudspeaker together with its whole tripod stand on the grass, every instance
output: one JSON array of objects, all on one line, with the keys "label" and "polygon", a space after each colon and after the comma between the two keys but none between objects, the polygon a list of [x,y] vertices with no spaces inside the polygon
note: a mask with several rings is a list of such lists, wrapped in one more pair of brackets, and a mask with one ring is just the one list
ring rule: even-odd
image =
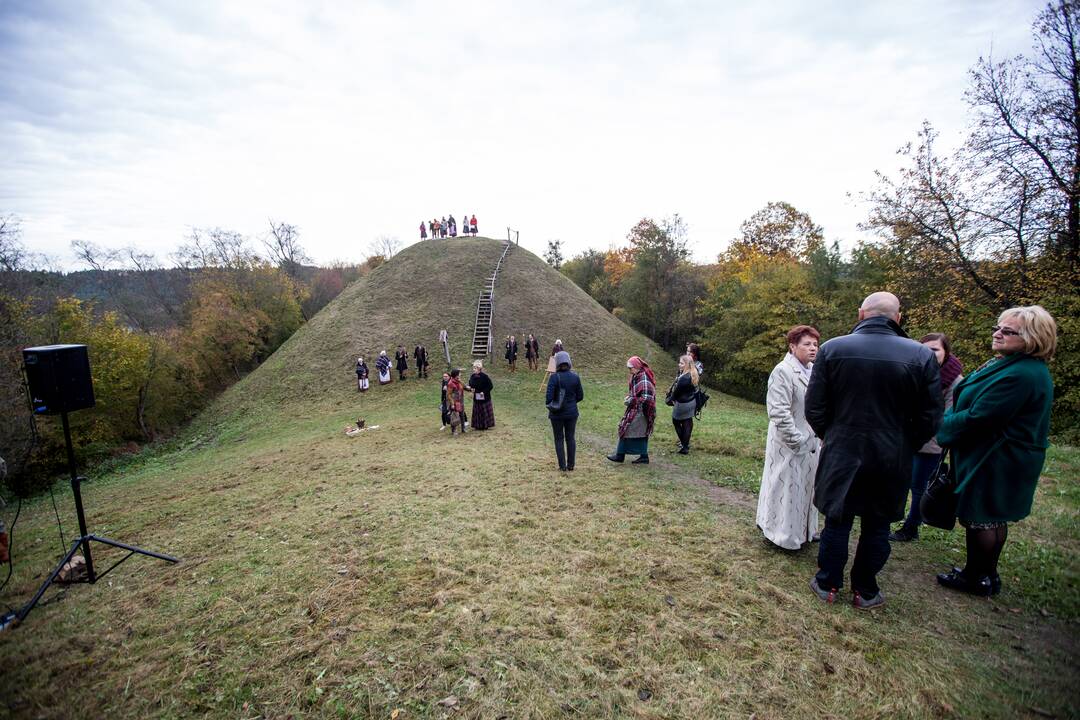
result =
[{"label": "black loudspeaker together with its whole tripod stand on the grass", "polygon": [[[23,351],[23,367],[26,371],[26,386],[30,394],[30,406],[33,413],[60,416],[60,422],[64,426],[64,443],[67,447],[68,472],[71,474],[71,492],[75,494],[75,510],[79,518],[79,536],[71,543],[71,549],[56,565],[56,568],[38,588],[33,597],[14,614],[0,617],[0,629],[23,622],[80,547],[83,559],[86,561],[86,582],[91,584],[96,583],[121,562],[136,554],[165,562],[179,562],[178,558],[171,555],[154,553],[86,532],[86,515],[82,507],[81,492],[82,481],[86,478],[81,477],[76,467],[75,448],[71,445],[71,426],[68,423],[68,412],[94,407],[94,383],[90,375],[90,354],[86,345],[27,348]],[[127,551],[127,554],[99,573],[94,569],[94,558],[91,553],[92,542],[119,547]]]}]

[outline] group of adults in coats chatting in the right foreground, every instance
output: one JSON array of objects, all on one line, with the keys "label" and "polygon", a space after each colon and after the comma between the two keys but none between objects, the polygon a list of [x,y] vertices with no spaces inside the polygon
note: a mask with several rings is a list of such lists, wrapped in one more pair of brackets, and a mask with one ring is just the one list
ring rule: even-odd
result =
[{"label": "group of adults in coats chatting in the right foreground", "polygon": [[[1047,361],[1057,329],[1044,309],[1001,313],[990,334],[994,357],[968,377],[947,336],[913,341],[900,320],[896,297],[875,293],[863,301],[852,332],[820,349],[815,328],[793,327],[766,399],[757,525],[784,549],[820,543],[810,587],[833,602],[859,517],[850,579],[853,603],[864,610],[885,603],[877,575],[890,542],[918,539],[920,500],[932,477],[951,478],[945,497],[955,497],[967,533],[967,563],[937,582],[974,595],[999,593],[1008,526],[1031,511],[1050,430]],[[820,535],[819,511],[825,518]]]}]

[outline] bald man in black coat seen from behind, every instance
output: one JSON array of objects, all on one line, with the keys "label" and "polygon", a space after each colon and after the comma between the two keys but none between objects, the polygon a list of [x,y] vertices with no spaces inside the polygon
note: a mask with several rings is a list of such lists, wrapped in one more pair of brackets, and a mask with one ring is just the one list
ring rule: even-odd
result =
[{"label": "bald man in black coat seen from behind", "polygon": [[860,610],[885,604],[877,574],[889,559],[889,524],[904,516],[912,458],[942,421],[937,361],[907,337],[900,318],[892,293],[863,300],[851,335],[818,352],[806,396],[807,420],[824,441],[814,505],[825,528],[810,587],[826,602],[836,599],[858,516],[851,588]]}]

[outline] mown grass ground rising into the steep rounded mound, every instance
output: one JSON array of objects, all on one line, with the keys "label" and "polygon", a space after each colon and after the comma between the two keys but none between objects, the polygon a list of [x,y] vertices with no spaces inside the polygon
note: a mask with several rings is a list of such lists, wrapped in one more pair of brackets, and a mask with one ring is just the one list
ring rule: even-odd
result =
[{"label": "mown grass ground rising into the steep rounded mound", "polygon": [[[458,243],[432,253],[499,249]],[[609,463],[625,354],[644,349],[661,378],[674,362],[525,252],[500,276],[497,331],[549,345],[557,334],[575,355],[586,393],[575,473],[555,471],[542,372],[497,363],[497,426],[462,437],[438,430],[434,377],[357,396],[350,357],[381,344],[368,310],[407,298],[399,284],[423,250],[350,287],[183,437],[85,487],[95,531],[184,561],[132,559],[0,635],[13,717],[1080,712],[1076,449],[1052,449],[997,598],[936,587],[962,538],[927,531],[894,548],[881,611],[825,606],[806,586],[813,551],[770,549],[754,527],[762,408],[716,393],[690,456],[672,452],[662,416],[653,464]],[[489,272],[476,266],[441,290],[467,318],[465,282]],[[402,341],[437,332],[408,325],[422,314],[407,304],[386,308],[377,322]],[[379,429],[346,437],[357,415]],[[24,507],[15,543],[0,596],[12,604],[58,553],[48,497]]]}]

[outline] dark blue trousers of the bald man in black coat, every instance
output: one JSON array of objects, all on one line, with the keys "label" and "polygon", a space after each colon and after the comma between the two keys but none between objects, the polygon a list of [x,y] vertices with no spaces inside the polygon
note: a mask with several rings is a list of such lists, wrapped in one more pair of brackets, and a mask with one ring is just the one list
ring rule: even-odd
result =
[{"label": "dark blue trousers of the bald man in black coat", "polygon": [[[843,566],[848,563],[848,539],[854,516],[841,519],[825,518],[818,547],[818,584],[825,589],[843,587]],[[889,559],[889,524],[862,518],[855,560],[851,563],[851,589],[864,598],[874,597],[880,589],[877,574]]]}]

